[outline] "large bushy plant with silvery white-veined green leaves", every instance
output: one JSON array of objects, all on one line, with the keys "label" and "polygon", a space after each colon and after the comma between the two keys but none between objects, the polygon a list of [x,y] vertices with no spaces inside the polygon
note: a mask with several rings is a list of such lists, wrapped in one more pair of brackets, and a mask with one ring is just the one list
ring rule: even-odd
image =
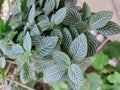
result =
[{"label": "large bushy plant with silvery white-veined green leaves", "polygon": [[30,80],[31,73],[42,72],[45,83],[67,81],[70,88],[79,90],[84,85],[83,68],[98,47],[89,30],[104,35],[120,33],[120,26],[110,21],[111,11],[92,13],[86,3],[82,8],[76,3],[16,0],[0,49],[6,60],[17,60],[22,83]]}]

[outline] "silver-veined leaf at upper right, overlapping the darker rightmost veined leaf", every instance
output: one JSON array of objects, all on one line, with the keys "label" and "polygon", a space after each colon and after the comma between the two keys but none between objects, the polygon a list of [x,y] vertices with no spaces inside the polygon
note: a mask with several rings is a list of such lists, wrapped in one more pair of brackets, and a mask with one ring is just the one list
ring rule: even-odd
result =
[{"label": "silver-veined leaf at upper right, overlapping the darker rightmost veined leaf", "polygon": [[101,28],[105,26],[112,18],[113,13],[111,11],[102,11],[96,13],[90,17],[89,25],[91,28]]}]

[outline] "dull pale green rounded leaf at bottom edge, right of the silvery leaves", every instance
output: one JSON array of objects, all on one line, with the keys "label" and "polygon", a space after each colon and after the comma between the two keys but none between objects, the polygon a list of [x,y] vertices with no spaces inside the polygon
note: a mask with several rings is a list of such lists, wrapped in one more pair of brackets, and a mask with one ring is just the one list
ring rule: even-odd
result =
[{"label": "dull pale green rounded leaf at bottom edge, right of the silvery leaves", "polygon": [[101,76],[96,73],[87,74],[86,81],[90,84],[90,90],[97,90],[103,84]]}]

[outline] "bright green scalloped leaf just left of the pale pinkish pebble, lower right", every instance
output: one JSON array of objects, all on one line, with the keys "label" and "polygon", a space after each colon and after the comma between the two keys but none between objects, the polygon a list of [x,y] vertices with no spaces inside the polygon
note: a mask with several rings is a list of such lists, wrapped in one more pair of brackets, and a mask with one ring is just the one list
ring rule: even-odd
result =
[{"label": "bright green scalloped leaf just left of the pale pinkish pebble, lower right", "polygon": [[92,66],[97,70],[102,70],[105,65],[108,64],[109,58],[104,53],[95,55],[96,60],[93,62]]}]

